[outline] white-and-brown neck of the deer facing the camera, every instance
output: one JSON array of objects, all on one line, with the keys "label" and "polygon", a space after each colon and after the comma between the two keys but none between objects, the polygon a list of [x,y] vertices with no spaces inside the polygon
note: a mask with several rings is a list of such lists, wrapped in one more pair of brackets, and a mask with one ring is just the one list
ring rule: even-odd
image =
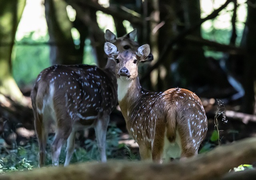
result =
[{"label": "white-and-brown neck of the deer facing the camera", "polygon": [[129,113],[133,110],[134,104],[140,100],[142,95],[142,88],[140,86],[139,78],[134,80],[117,79],[118,84],[118,102],[124,119],[127,120]]}]

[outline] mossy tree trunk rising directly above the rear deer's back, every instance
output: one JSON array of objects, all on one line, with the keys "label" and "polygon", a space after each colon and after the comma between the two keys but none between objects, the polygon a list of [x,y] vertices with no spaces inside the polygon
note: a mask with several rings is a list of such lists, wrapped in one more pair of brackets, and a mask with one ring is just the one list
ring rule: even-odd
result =
[{"label": "mossy tree trunk rising directly above the rear deer's back", "polygon": [[71,34],[72,22],[68,18],[66,2],[63,0],[45,0],[45,16],[50,36],[51,64],[81,64],[81,56],[76,49]]}]

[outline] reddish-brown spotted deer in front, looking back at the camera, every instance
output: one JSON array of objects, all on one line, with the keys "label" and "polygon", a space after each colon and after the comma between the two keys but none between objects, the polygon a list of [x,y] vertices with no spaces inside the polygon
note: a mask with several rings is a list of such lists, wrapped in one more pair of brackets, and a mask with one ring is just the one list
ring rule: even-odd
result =
[{"label": "reddish-brown spotted deer in front, looking back at the camera", "polygon": [[114,44],[106,42],[104,51],[116,61],[119,106],[142,160],[160,163],[196,156],[208,123],[198,96],[181,88],[149,92],[140,86],[138,62],[149,55],[148,44],[137,52],[118,52]]}]

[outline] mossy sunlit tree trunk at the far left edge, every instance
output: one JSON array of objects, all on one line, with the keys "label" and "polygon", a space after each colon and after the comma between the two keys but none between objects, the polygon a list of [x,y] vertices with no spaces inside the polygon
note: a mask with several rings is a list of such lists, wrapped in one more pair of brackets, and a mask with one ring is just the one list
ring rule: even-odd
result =
[{"label": "mossy sunlit tree trunk at the far left edge", "polygon": [[26,0],[0,1],[0,96],[22,102],[24,96],[12,77],[11,56],[18,24]]}]

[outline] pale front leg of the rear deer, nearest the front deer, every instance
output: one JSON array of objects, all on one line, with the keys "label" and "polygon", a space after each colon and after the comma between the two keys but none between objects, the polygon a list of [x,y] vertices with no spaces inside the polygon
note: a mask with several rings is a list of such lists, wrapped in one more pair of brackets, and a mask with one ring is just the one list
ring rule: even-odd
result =
[{"label": "pale front leg of the rear deer, nearest the front deer", "polygon": [[106,162],[106,134],[108,129],[109,115],[99,118],[95,125],[95,133],[102,162]]}]

